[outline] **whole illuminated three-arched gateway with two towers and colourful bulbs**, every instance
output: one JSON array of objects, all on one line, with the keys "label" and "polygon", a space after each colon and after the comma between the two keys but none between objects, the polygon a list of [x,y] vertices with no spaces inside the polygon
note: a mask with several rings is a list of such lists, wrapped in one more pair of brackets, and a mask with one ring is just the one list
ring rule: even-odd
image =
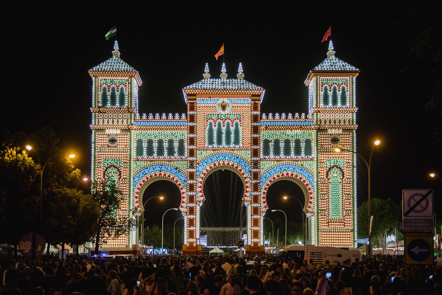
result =
[{"label": "whole illuminated three-arched gateway with two towers and colourful bulbs", "polygon": [[[246,253],[264,253],[266,194],[278,180],[291,180],[304,192],[307,245],[355,247],[356,155],[334,148],[356,150],[359,70],[335,57],[330,41],[327,58],[305,79],[308,115],[261,113],[265,90],[244,80],[241,64],[233,79],[224,64],[220,78],[210,76],[207,64],[204,72],[183,88],[185,113],[146,115],[138,113],[141,78],[120,58],[117,41],[112,57],[89,70],[91,179],[117,182],[125,196],[119,214],[143,210],[140,198],[149,184],[170,180],[181,192],[183,253],[199,254],[204,181],[229,169],[244,184]],[[139,240],[134,230],[100,250],[129,253]]]}]

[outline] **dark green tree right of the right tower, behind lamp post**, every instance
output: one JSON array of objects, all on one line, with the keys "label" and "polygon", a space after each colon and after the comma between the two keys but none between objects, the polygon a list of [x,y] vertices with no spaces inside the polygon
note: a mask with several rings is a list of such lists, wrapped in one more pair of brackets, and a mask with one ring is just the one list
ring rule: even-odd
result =
[{"label": "dark green tree right of the right tower, behind lamp post", "polygon": [[[397,221],[401,215],[401,206],[395,204],[392,199],[371,199],[370,214],[373,215],[372,245],[385,245],[385,232],[394,234],[397,229]],[[368,205],[366,202],[358,208],[358,237],[368,237]],[[397,230],[397,232],[399,232]]]}]

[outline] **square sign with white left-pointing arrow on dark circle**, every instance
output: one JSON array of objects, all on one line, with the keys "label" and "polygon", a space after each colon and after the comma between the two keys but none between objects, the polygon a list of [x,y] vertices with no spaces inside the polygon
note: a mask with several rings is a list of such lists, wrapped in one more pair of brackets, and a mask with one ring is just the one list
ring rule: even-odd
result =
[{"label": "square sign with white left-pointing arrow on dark circle", "polygon": [[433,234],[405,233],[405,263],[433,264]]}]

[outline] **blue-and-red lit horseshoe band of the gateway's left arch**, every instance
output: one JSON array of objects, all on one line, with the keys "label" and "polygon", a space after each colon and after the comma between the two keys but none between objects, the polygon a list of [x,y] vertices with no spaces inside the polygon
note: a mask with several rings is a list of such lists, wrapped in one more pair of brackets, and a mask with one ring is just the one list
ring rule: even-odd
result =
[{"label": "blue-and-red lit horseshoe band of the gateway's left arch", "polygon": [[187,175],[181,169],[170,164],[152,164],[138,170],[133,176],[133,205],[141,208],[140,197],[146,188],[157,180],[169,180],[175,183],[181,193],[179,210],[185,214]]}]

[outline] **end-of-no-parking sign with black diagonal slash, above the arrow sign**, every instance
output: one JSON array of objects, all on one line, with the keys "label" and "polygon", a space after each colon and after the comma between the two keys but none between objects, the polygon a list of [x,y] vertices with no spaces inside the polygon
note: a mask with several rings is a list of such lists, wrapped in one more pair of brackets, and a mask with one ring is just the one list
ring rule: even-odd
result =
[{"label": "end-of-no-parking sign with black diagonal slash, above the arrow sign", "polygon": [[402,228],[404,231],[434,230],[432,189],[404,189],[402,191]]}]

